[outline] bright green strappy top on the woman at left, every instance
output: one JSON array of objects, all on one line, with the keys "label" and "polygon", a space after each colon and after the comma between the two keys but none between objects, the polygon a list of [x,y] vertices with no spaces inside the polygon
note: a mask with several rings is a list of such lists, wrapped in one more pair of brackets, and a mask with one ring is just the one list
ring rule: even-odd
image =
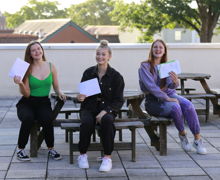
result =
[{"label": "bright green strappy top on the woman at left", "polygon": [[40,80],[33,75],[29,76],[30,95],[37,97],[49,96],[52,83],[53,76],[50,63],[50,74],[45,79]]}]

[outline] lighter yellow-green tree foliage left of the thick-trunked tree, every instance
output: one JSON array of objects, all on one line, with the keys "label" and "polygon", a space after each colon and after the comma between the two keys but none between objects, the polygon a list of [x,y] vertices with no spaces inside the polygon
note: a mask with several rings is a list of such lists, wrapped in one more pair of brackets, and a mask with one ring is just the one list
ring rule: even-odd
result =
[{"label": "lighter yellow-green tree foliage left of the thick-trunked tree", "polygon": [[142,36],[140,42],[152,41],[153,35],[159,33],[164,27],[173,27],[167,15],[156,12],[149,4],[143,1],[141,4],[124,3],[123,0],[115,1],[115,8],[111,12],[113,20],[120,23],[121,29],[126,27],[137,28]]}]

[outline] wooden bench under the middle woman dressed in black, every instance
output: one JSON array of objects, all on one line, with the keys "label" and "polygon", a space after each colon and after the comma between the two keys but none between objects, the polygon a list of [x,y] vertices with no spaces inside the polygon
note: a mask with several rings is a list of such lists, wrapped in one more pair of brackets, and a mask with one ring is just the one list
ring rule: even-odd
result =
[{"label": "wooden bench under the middle woman dressed in black", "polygon": [[[116,130],[119,129],[129,129],[131,131],[131,141],[130,142],[119,142],[114,144],[115,150],[131,150],[132,151],[132,161],[135,161],[136,153],[136,128],[144,127],[141,121],[117,121],[114,123]],[[73,152],[78,151],[78,143],[73,142],[73,132],[79,131],[80,123],[61,123],[61,128],[68,131],[69,134],[69,155],[70,164],[73,163]],[[97,126],[96,129],[99,127]],[[98,151],[103,150],[100,143],[91,143],[88,150]]]}]

